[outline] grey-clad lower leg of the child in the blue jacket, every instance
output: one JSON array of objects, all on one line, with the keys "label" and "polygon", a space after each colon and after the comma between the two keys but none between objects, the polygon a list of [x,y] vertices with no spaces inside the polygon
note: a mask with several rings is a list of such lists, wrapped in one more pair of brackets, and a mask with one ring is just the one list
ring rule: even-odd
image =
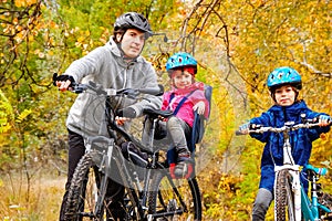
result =
[{"label": "grey-clad lower leg of the child in the blue jacket", "polygon": [[273,194],[264,188],[258,190],[252,208],[252,221],[266,220],[267,211],[273,200]]}]

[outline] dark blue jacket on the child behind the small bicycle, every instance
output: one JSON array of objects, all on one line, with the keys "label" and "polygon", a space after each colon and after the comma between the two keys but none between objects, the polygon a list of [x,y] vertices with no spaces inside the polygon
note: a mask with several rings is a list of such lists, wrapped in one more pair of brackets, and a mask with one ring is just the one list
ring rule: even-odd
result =
[{"label": "dark blue jacket on the child behind the small bicycle", "polygon": [[[252,118],[250,124],[282,127],[286,122],[294,122],[295,124],[301,123],[301,114],[305,114],[308,119],[312,119],[319,115],[325,115],[323,113],[315,113],[309,109],[305,103],[300,101],[287,107],[273,105],[260,117]],[[292,156],[297,165],[304,166],[308,164],[311,155],[312,141],[318,139],[320,134],[328,133],[329,130],[330,126],[301,128],[290,131]],[[282,134],[270,131],[263,134],[251,134],[250,136],[266,143],[261,157],[261,179],[259,188],[266,188],[272,192],[274,183],[274,164],[280,166],[283,162],[283,136]]]}]

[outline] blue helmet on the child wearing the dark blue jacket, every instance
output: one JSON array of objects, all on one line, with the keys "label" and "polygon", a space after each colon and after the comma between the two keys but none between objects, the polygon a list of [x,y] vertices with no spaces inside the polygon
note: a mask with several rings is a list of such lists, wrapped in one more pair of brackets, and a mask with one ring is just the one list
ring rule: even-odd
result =
[{"label": "blue helmet on the child wearing the dark blue jacket", "polygon": [[269,74],[268,87],[271,92],[284,84],[290,84],[295,88],[301,90],[301,75],[294,69],[289,66],[278,67]]}]

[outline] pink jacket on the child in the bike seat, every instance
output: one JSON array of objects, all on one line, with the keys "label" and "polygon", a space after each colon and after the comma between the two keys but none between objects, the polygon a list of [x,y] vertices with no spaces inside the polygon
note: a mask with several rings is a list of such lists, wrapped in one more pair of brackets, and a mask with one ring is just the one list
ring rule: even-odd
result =
[{"label": "pink jacket on the child in the bike seat", "polygon": [[[204,84],[201,82],[195,82],[186,88],[173,88],[169,92],[164,93],[162,109],[175,110],[180,101],[188,95],[191,91],[196,90],[193,94],[188,96],[186,102],[181,105],[176,116],[185,120],[190,127],[194,123],[194,110],[193,107],[198,102],[203,101],[205,103],[205,117],[208,117],[209,103],[204,94]],[[174,94],[174,98],[169,103],[170,95]]]}]

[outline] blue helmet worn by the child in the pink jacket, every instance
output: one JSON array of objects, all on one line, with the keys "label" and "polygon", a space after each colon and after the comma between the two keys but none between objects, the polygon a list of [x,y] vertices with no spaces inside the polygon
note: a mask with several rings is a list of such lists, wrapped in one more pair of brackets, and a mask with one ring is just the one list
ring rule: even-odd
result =
[{"label": "blue helmet worn by the child in the pink jacket", "polygon": [[186,52],[175,53],[166,62],[167,72],[169,72],[172,70],[180,69],[180,67],[186,67],[186,66],[195,67],[195,74],[196,74],[197,61],[193,55],[190,55],[189,53],[186,53]]}]

